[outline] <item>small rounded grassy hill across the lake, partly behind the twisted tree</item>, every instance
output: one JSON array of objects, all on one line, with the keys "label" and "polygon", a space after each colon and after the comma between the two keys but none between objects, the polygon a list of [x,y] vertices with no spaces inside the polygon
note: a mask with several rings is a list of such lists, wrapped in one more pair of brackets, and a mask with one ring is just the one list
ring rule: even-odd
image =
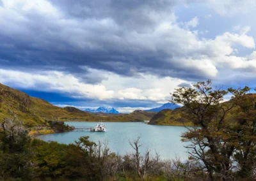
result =
[{"label": "small rounded grassy hill across the lake, partly behind the twisted tree", "polygon": [[192,122],[182,118],[182,108],[175,110],[162,110],[150,119],[148,124],[152,125],[170,125],[170,126],[192,126]]}]

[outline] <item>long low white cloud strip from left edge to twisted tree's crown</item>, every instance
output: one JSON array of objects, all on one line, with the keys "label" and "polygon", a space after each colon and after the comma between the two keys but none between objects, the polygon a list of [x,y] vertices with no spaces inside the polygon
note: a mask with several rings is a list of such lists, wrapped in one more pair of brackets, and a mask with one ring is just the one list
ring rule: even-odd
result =
[{"label": "long low white cloud strip from left edge to twisted tree's crown", "polygon": [[120,78],[118,75],[106,71],[101,71],[100,75],[108,78],[103,80],[102,83],[93,85],[80,82],[76,76],[61,71],[26,73],[0,69],[0,82],[23,89],[66,93],[70,97],[81,99],[138,99],[150,101],[167,101],[169,92],[174,91],[175,87],[182,82],[179,79],[157,78],[157,76],[150,75],[141,75],[137,79],[131,77]]}]

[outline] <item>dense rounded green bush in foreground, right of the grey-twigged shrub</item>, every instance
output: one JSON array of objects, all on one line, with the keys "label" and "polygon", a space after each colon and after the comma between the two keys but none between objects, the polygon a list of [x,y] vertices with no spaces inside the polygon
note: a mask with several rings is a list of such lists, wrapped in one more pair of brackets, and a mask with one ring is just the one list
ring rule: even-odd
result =
[{"label": "dense rounded green bush in foreground, right of the grey-twigged shrub", "polygon": [[47,143],[33,140],[36,174],[40,178],[83,178],[88,175],[90,165],[81,148],[74,144]]}]

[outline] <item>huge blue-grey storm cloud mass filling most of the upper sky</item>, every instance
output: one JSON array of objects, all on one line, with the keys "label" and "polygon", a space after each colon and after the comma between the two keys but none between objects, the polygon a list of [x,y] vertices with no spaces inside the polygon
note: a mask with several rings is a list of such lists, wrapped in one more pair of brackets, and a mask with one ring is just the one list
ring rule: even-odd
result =
[{"label": "huge blue-grey storm cloud mass filling most of the upper sky", "polygon": [[124,76],[205,77],[205,72],[179,61],[188,53],[179,42],[165,42],[164,34],[147,42],[147,33],[160,22],[175,20],[177,0],[49,2],[56,10],[52,14],[18,7],[12,9],[18,18],[6,9],[6,18],[0,18],[5,25],[0,30],[2,68],[67,71],[89,83],[104,78],[87,76],[83,66]]}]

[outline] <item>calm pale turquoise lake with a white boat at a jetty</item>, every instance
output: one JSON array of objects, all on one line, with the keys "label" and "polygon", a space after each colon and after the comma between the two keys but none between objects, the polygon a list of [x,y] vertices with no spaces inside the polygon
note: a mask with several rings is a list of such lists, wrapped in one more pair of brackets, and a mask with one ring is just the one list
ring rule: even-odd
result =
[{"label": "calm pale turquoise lake with a white boat at a jetty", "polygon": [[[65,122],[74,127],[95,127],[96,122]],[[129,145],[129,139],[133,140],[141,136],[141,153],[147,148],[159,152],[162,159],[172,159],[180,156],[183,159],[188,157],[187,149],[180,141],[180,134],[187,131],[182,126],[154,126],[141,122],[104,122],[107,131],[102,133],[75,130],[67,133],[45,134],[38,136],[44,141],[58,141],[59,143],[74,143],[81,136],[90,136],[90,141],[108,141],[108,147],[111,152],[121,155],[131,153],[132,148]]]}]

